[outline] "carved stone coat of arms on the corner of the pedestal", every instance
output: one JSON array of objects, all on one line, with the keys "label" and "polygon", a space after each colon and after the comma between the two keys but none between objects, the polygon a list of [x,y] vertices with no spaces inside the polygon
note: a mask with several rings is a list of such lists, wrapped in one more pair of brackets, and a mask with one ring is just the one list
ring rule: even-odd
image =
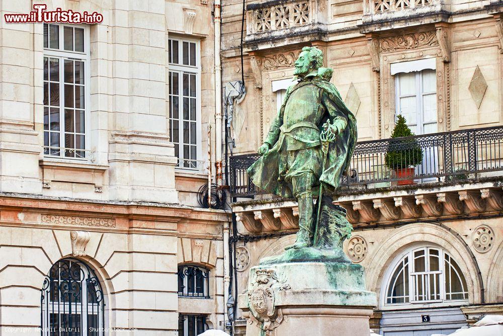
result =
[{"label": "carved stone coat of arms on the corner of the pedestal", "polygon": [[279,279],[274,270],[256,270],[256,280],[248,288],[250,323],[256,323],[264,336],[272,336],[283,320],[281,308],[275,306],[275,291],[290,288],[286,279]]}]

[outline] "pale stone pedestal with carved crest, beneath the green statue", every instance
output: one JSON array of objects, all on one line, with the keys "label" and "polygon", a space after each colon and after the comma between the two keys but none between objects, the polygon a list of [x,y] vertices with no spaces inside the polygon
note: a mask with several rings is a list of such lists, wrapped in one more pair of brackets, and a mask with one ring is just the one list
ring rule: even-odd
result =
[{"label": "pale stone pedestal with carved crest, beneath the green statue", "polygon": [[376,296],[364,279],[361,265],[343,262],[253,267],[238,297],[246,336],[367,336]]}]

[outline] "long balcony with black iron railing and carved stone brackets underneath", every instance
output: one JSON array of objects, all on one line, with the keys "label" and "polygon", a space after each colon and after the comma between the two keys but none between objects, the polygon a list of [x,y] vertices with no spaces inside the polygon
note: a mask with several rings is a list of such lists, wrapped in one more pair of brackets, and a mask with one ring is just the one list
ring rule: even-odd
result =
[{"label": "long balcony with black iron railing and carved stone brackets underneath", "polygon": [[[267,194],[249,180],[246,169],[257,159],[256,154],[230,158],[231,196],[240,200],[233,210],[250,232],[295,228],[295,200]],[[403,175],[400,168],[414,164]],[[503,126],[360,142],[334,204],[357,225],[499,212],[501,171]]]}]

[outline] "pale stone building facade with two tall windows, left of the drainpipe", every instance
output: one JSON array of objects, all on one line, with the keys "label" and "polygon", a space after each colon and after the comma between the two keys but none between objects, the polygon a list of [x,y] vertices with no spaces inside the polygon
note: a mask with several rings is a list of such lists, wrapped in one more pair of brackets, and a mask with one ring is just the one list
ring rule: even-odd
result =
[{"label": "pale stone building facade with two tall windows, left of the drainpipe", "polygon": [[[103,22],[6,23],[36,4]],[[215,139],[213,12],[0,2],[1,335],[224,328],[230,217],[197,203],[211,124]]]}]

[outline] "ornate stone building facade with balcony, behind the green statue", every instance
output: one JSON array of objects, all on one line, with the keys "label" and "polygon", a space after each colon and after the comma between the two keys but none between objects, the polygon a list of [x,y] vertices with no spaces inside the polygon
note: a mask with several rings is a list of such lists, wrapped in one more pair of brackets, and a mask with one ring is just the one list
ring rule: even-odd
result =
[{"label": "ornate stone building facade with balcony, behind the green statue", "polygon": [[[242,2],[222,5],[225,83],[240,77]],[[317,46],[358,121],[356,174],[333,196],[354,226],[345,250],[378,296],[372,328],[450,333],[503,310],[502,11],[489,0],[245,2],[247,94],[233,116],[230,161],[237,292],[251,266],[295,240],[295,201],[260,193],[245,169],[292,84],[295,58]],[[423,153],[409,181],[385,164],[397,114]],[[236,334],[244,328],[238,319]]]}]

